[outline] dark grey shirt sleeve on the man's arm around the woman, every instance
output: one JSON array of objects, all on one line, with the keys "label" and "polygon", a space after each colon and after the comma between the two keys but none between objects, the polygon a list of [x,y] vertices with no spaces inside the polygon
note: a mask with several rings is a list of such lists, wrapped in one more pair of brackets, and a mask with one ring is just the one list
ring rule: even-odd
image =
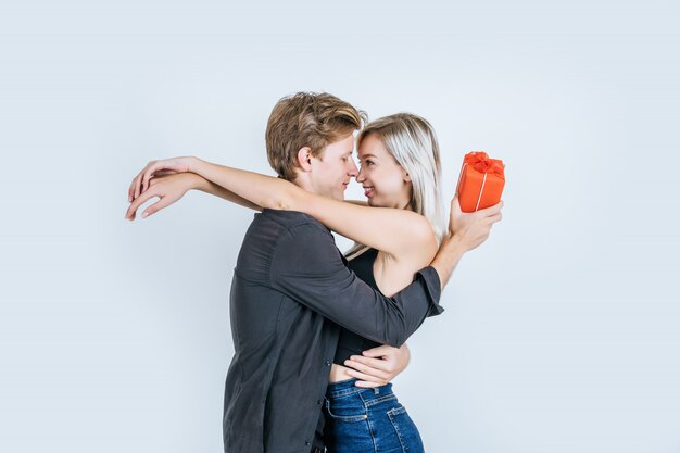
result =
[{"label": "dark grey shirt sleeve on the man's arm around the woman", "polygon": [[307,223],[278,239],[270,285],[336,324],[379,343],[401,347],[427,316],[443,312],[441,284],[433,267],[392,298],[350,270],[328,230]]}]

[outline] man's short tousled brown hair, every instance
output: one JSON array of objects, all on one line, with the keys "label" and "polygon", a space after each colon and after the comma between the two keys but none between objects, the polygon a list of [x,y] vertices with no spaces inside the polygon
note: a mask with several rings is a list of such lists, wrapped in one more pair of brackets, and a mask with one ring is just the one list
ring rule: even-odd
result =
[{"label": "man's short tousled brown hair", "polygon": [[366,113],[327,92],[281,98],[272,110],[265,134],[269,165],[284,179],[293,180],[301,148],[308,147],[316,158],[366,121]]}]

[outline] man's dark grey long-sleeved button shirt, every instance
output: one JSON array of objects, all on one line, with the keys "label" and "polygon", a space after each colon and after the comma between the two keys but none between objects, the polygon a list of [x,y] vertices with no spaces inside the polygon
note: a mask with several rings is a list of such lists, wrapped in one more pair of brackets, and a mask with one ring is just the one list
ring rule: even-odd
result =
[{"label": "man's dark grey long-sleeved button shirt", "polygon": [[226,453],[308,453],[342,326],[402,345],[440,314],[432,267],[386,298],[347,267],[328,228],[300,212],[255,214],[234,269],[235,355],[224,400]]}]

